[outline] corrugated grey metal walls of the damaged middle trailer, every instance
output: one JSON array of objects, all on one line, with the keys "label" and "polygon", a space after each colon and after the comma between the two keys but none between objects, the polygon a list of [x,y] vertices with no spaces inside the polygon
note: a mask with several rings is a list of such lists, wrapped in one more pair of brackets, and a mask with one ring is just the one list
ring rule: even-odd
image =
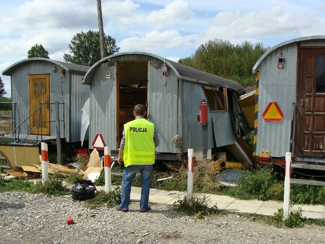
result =
[{"label": "corrugated grey metal walls of the damaged middle trailer", "polygon": [[[198,122],[199,106],[205,99],[202,84],[179,80],[177,74],[168,69],[168,76],[163,76],[162,69],[154,68],[153,63],[161,60],[143,54],[128,54],[111,58],[101,64],[91,80],[89,140],[96,134],[102,134],[107,146],[117,150],[116,144],[116,62],[148,61],[148,120],[154,123],[160,139],[156,148],[159,153],[187,153],[188,148],[202,149],[202,125]],[[163,64],[161,64],[163,66]],[[106,79],[105,72],[112,73],[112,79]],[[213,124],[213,120],[215,123]],[[209,113],[208,148],[215,147],[213,125],[218,133],[217,143],[226,145],[234,143],[231,117],[229,112]],[[230,131],[224,131],[230,130]],[[172,139],[179,135],[182,147],[176,147]],[[90,143],[91,148],[91,143]]]}]

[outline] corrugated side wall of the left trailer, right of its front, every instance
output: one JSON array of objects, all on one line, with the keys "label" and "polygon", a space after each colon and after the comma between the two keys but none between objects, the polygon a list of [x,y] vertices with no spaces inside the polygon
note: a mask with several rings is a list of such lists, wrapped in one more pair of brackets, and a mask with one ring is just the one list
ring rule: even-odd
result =
[{"label": "corrugated side wall of the left trailer, right of its front", "polygon": [[[90,87],[82,84],[83,75],[71,75],[71,142],[80,141],[82,107],[89,98]],[[84,140],[88,140],[85,135]]]}]

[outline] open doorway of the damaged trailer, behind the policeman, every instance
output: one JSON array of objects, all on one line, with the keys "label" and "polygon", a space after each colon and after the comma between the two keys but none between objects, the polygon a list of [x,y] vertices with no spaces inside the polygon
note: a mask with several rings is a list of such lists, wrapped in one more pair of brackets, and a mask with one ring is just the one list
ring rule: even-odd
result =
[{"label": "open doorway of the damaged trailer, behind the policeman", "polygon": [[117,145],[120,144],[123,125],[133,120],[134,106],[143,104],[148,109],[148,61],[117,62]]}]

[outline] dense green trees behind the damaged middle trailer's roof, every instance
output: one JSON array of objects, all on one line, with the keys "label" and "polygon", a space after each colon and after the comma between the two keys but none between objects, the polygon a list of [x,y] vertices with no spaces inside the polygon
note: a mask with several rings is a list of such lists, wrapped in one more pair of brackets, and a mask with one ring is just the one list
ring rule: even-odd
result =
[{"label": "dense green trees behind the damaged middle trailer's roof", "polygon": [[244,41],[234,45],[214,39],[202,44],[194,54],[180,59],[178,63],[235,80],[246,87],[255,82],[252,68],[267,50],[262,43]]}]

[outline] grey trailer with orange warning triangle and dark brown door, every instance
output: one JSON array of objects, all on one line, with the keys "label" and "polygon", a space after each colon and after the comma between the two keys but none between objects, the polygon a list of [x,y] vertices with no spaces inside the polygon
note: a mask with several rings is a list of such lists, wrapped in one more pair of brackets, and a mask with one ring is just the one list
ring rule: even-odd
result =
[{"label": "grey trailer with orange warning triangle and dark brown door", "polygon": [[280,43],[259,58],[256,75],[255,138],[258,162],[325,166],[325,36]]}]

